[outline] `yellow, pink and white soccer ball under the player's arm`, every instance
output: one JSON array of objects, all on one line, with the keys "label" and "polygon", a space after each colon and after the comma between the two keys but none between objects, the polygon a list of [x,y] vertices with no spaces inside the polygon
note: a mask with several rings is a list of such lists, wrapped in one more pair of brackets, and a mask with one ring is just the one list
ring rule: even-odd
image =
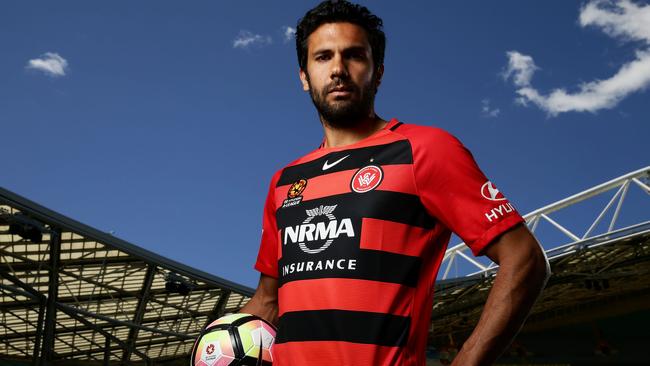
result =
[{"label": "yellow, pink and white soccer ball under the player's arm", "polygon": [[230,314],[208,325],[194,342],[190,366],[270,366],[276,329],[251,314]]}]

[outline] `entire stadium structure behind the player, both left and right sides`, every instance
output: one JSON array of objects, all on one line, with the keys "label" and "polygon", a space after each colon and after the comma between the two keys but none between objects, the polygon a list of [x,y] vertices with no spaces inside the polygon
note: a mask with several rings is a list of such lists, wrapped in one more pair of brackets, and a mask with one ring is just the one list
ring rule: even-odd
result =
[{"label": "entire stadium structure behind the player, both left and right sides", "polygon": [[[649,183],[646,167],[525,215],[551,248],[553,274],[501,364],[650,359],[643,358],[650,326]],[[641,218],[621,225],[635,189]],[[584,233],[560,219],[573,206],[597,206],[603,196],[604,207],[593,209]],[[559,235],[543,234],[544,227]],[[445,254],[431,365],[449,364],[498,271],[467,253],[461,243]],[[0,364],[187,365],[200,330],[240,309],[252,293],[0,188]]]}]

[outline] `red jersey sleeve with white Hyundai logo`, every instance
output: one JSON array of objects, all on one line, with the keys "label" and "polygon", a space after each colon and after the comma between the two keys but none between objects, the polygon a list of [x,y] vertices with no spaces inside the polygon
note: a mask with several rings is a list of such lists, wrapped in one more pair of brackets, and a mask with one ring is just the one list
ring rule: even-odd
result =
[{"label": "red jersey sleeve with white Hyundai logo", "polygon": [[427,211],[456,233],[474,255],[524,219],[469,150],[438,128],[414,134],[415,183]]}]

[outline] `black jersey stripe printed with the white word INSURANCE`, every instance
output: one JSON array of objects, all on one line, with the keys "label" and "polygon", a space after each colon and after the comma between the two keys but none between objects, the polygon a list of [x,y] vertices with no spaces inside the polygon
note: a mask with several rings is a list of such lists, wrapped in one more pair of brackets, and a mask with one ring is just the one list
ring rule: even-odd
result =
[{"label": "black jersey stripe printed with the white word INSURANCE", "polygon": [[[331,254],[303,258],[283,257],[278,262],[280,287],[287,282],[318,278],[353,278],[417,286],[422,263],[419,257],[370,249],[360,249],[358,253],[346,257]],[[354,270],[347,270],[351,265],[350,260],[354,261]],[[314,270],[319,262],[322,269]]]}]

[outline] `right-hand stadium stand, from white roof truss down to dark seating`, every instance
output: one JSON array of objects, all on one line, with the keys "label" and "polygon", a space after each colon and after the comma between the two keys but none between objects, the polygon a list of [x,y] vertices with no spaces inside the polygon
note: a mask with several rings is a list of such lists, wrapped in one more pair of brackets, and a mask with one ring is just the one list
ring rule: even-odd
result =
[{"label": "right-hand stadium stand, from white roof truss down to dark seating", "polygon": [[[650,360],[649,183],[650,167],[645,167],[524,215],[528,228],[551,248],[546,256],[552,275],[500,362],[621,365]],[[628,202],[631,194],[636,195]],[[577,220],[571,210],[580,205],[580,212],[593,213],[592,219]],[[626,205],[635,212],[621,226]],[[583,232],[569,226],[575,221],[584,221]],[[469,336],[497,274],[497,264],[467,253],[464,243],[454,245],[441,265],[429,344],[431,358],[443,362],[431,364],[447,364]],[[460,275],[451,278],[458,268]]]}]

